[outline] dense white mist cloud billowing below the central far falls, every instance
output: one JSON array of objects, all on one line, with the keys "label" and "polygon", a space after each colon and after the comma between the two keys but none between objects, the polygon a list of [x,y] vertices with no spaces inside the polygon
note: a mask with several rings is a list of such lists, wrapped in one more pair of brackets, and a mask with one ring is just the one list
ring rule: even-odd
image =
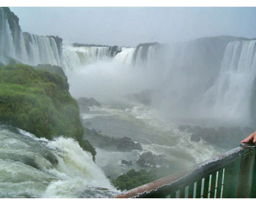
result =
[{"label": "dense white mist cloud billowing below the central far falls", "polygon": [[133,93],[158,87],[164,73],[152,66],[153,59],[151,64],[139,59],[133,64],[129,55],[133,57],[134,50],[128,49],[114,59],[102,58],[66,71],[71,94],[77,99],[94,97],[103,103],[111,103],[125,101]]}]

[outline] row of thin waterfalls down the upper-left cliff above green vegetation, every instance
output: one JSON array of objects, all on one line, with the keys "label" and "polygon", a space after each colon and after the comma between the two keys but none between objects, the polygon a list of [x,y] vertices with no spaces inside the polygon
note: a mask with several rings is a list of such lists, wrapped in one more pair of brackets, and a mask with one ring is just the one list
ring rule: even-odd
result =
[{"label": "row of thin waterfalls down the upper-left cliff above green vegetation", "polygon": [[62,39],[22,32],[18,17],[7,7],[0,8],[0,31],[0,62],[7,64],[13,58],[32,66],[62,65]]}]

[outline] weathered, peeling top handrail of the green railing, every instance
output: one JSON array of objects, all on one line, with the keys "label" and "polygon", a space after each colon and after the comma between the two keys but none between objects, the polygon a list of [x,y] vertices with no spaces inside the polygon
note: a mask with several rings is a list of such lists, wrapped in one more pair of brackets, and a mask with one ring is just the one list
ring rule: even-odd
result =
[{"label": "weathered, peeling top handrail of the green railing", "polygon": [[241,155],[252,153],[253,149],[246,145],[241,145],[221,156],[211,158],[189,169],[174,173],[171,176],[136,187],[117,195],[115,198],[161,198],[225,168],[225,166],[237,160]]}]

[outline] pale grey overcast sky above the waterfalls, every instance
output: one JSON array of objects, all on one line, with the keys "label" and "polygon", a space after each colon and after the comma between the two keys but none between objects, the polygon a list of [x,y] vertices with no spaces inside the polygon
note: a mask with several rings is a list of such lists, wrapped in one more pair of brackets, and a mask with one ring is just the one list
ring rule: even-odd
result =
[{"label": "pale grey overcast sky above the waterfalls", "polygon": [[64,42],[137,46],[203,36],[256,38],[256,7],[10,7],[22,31]]}]

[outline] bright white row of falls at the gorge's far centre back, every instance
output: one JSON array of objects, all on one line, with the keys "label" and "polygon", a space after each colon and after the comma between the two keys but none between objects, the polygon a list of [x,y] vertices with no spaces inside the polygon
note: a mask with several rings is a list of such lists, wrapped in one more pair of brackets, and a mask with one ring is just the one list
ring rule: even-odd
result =
[{"label": "bright white row of falls at the gorge's far centre back", "polygon": [[[147,69],[154,70],[154,62],[158,56],[158,50],[155,46],[149,46],[145,54],[143,54],[143,46],[138,48],[122,47],[118,54],[111,57],[110,47],[94,47],[94,46],[81,46],[74,47],[71,44],[63,46],[63,68],[65,71],[72,71],[79,67],[84,67],[88,64],[97,63],[103,60],[113,60],[113,63],[126,64],[127,66],[147,67]],[[134,61],[133,61],[134,60]]]}]

